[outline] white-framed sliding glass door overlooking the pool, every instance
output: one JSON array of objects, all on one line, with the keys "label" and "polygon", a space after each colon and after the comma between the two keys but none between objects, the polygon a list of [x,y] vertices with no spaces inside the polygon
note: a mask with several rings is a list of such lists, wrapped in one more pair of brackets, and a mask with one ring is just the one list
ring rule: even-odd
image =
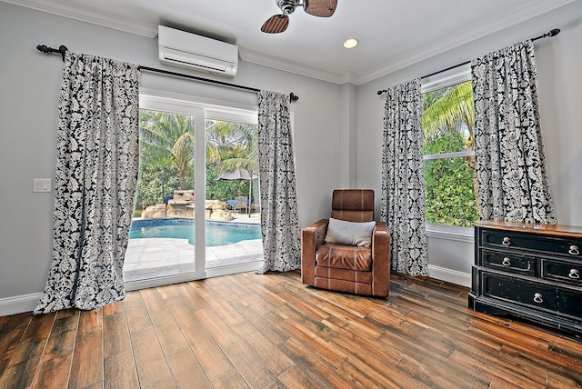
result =
[{"label": "white-framed sliding glass door overlooking the pool", "polygon": [[155,95],[140,106],[128,289],[260,267],[256,112]]}]

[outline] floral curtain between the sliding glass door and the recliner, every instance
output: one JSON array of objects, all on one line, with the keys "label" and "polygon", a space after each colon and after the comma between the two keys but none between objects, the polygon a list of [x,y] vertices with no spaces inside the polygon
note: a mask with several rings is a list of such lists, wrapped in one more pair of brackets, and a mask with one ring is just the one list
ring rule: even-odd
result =
[{"label": "floral curtain between the sliding glass door and the recliner", "polygon": [[288,95],[258,93],[258,149],[265,264],[257,273],[295,270],[301,267],[301,235]]}]

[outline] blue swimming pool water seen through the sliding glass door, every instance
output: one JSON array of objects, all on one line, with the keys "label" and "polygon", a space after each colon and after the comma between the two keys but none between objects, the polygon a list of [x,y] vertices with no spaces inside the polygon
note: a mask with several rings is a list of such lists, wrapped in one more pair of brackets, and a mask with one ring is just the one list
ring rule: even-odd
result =
[{"label": "blue swimming pool water seen through the sliding glass door", "polygon": [[[175,238],[195,243],[193,219],[134,220],[129,229],[129,239]],[[206,246],[235,244],[261,239],[260,224],[220,223],[206,221]]]}]

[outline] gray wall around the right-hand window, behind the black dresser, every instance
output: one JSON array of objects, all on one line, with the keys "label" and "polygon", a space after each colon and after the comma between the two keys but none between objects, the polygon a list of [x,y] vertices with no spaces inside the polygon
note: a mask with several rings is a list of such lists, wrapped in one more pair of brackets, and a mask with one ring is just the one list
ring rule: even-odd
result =
[{"label": "gray wall around the right-hand window, behind the black dresser", "polygon": [[[538,71],[542,133],[547,154],[550,189],[559,224],[582,225],[582,2],[573,2],[546,15],[487,35],[447,53],[407,66],[390,75],[359,85],[357,88],[357,185],[380,190],[382,120],[384,97],[379,89],[398,85],[461,64],[504,46],[546,33],[552,28],[562,32],[554,38],[535,43]],[[376,200],[379,205],[379,199]],[[429,237],[428,262],[431,270],[444,268],[470,273],[473,262],[471,239]],[[436,272],[431,271],[431,275]],[[467,277],[466,277],[467,279]]]}]

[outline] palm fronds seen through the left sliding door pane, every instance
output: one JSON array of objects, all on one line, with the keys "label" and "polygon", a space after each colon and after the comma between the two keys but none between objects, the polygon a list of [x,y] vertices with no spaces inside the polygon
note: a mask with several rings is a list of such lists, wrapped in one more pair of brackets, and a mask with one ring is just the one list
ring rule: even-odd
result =
[{"label": "palm fronds seen through the left sliding door pane", "polygon": [[140,111],[141,142],[151,146],[150,157],[163,165],[167,158],[176,165],[180,189],[194,166],[194,117],[157,111]]}]

